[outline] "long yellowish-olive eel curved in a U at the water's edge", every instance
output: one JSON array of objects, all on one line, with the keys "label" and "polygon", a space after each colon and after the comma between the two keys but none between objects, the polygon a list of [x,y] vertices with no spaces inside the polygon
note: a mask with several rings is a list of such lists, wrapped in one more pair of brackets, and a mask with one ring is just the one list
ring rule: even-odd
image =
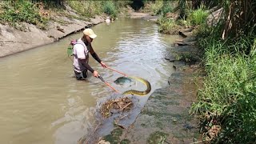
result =
[{"label": "long yellowish-olive eel curved in a U at the water's edge", "polygon": [[127,91],[125,91],[124,93],[122,93],[122,94],[132,94],[132,95],[140,95],[140,96],[142,96],[142,95],[146,95],[146,94],[149,94],[150,93],[150,90],[151,90],[151,85],[150,85],[150,82],[148,82],[146,79],[144,79],[144,78],[138,78],[138,77],[133,77],[133,76],[131,76],[131,77],[127,77],[127,78],[133,78],[133,79],[135,79],[135,80],[137,80],[137,81],[139,81],[139,82],[142,82],[144,85],[146,85],[146,90],[144,90],[144,91],[139,91],[139,90],[127,90]]}]

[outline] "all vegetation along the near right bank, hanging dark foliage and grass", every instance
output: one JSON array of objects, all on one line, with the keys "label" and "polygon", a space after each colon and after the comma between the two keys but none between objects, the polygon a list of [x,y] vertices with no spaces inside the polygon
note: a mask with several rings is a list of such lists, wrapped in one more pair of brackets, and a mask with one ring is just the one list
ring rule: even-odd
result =
[{"label": "all vegetation along the near right bank, hanging dark foliage and grass", "polygon": [[[218,25],[202,26],[197,31],[199,46],[205,51],[207,76],[191,112],[202,115],[202,131],[207,141],[254,143],[256,18],[249,16],[256,2],[225,1],[218,6],[224,9]],[[210,134],[216,127],[218,132]]]}]

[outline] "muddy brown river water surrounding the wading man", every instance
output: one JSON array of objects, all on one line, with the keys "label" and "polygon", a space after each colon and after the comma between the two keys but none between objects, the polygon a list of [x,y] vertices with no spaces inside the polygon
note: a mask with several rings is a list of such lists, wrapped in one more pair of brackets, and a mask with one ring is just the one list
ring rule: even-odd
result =
[{"label": "muddy brown river water surrounding the wading man", "polygon": [[[154,22],[139,19],[120,18],[92,29],[98,34],[94,50],[108,66],[146,78],[152,86],[150,94],[167,85],[173,71],[164,57],[178,37],[158,34]],[[0,59],[0,143],[72,144],[87,133],[97,101],[114,91],[91,74],[86,81],[74,78],[66,47],[80,36],[81,32]],[[93,58],[90,65],[121,92],[145,89],[139,82],[117,86],[114,80],[121,74],[103,69]],[[142,105],[150,94],[139,97]]]}]

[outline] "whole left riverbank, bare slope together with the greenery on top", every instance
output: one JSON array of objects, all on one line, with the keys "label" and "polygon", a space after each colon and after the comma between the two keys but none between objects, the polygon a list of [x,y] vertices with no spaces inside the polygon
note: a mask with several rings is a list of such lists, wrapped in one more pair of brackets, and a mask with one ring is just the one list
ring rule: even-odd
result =
[{"label": "whole left riverbank, bare slope together with the greenery on top", "polygon": [[86,27],[114,20],[129,2],[119,1],[2,1],[0,58],[56,42]]}]

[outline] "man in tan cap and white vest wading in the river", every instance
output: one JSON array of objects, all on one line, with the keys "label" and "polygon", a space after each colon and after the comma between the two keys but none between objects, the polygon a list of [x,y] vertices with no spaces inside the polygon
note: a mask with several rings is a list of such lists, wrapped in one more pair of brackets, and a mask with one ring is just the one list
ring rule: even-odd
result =
[{"label": "man in tan cap and white vest wading in the river", "polygon": [[94,48],[91,46],[91,42],[93,42],[94,38],[97,35],[94,34],[94,31],[91,29],[83,30],[82,38],[79,38],[77,42],[74,44],[74,74],[78,80],[82,80],[87,78],[87,70],[94,74],[94,77],[98,78],[99,74],[96,70],[94,70],[89,64],[89,52],[91,56],[99,62],[102,67],[106,67],[106,64],[102,62],[100,58],[98,58],[98,54],[95,53]]}]

